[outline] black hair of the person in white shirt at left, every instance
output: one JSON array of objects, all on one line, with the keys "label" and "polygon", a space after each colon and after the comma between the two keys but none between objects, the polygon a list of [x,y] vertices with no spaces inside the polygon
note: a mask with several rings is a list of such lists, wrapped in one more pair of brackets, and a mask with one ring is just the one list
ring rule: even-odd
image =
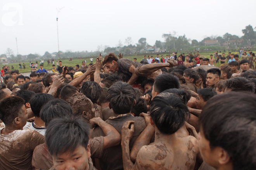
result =
[{"label": "black hair of the person in white shirt at left", "polygon": [[44,104],[53,100],[54,97],[47,93],[37,93],[29,101],[31,110],[36,117],[40,117],[40,110]]}]

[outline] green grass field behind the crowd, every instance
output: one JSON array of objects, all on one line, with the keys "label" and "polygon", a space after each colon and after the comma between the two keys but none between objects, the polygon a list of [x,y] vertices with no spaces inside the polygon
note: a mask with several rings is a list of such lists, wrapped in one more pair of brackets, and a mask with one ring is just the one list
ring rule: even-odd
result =
[{"label": "green grass field behind the crowd", "polygon": [[[215,51],[202,51],[200,52],[200,56],[204,56],[204,57],[207,57],[207,58],[210,58],[210,55],[211,54],[214,54]],[[232,53],[235,53],[234,51],[231,51]],[[189,52],[181,52],[181,53],[185,53],[185,55],[187,55]],[[194,52],[192,51],[192,53],[194,54]],[[226,56],[228,54],[228,51],[225,52],[226,53]],[[164,57],[166,56],[166,54],[172,54],[172,53],[159,53],[159,58],[161,58],[161,55],[163,55]],[[178,53],[180,55],[180,52]],[[153,53],[153,54],[145,54],[145,55],[150,55],[150,56],[154,56],[154,58],[156,58],[156,53]],[[116,54],[116,56],[118,56],[118,54]],[[137,58],[137,61],[140,62],[142,60],[142,58],[144,58],[144,54],[139,54],[139,55],[130,55],[130,56],[123,56],[124,58],[128,58],[128,59],[131,59],[133,60],[133,58]],[[52,68],[52,63],[50,63],[49,66],[47,66],[47,60],[45,59],[44,60],[44,67],[46,70],[50,70]],[[55,64],[56,64],[56,59],[55,59]],[[81,64],[82,64],[82,61],[84,61],[84,58],[83,59],[73,59],[72,61],[69,61],[69,59],[61,59],[62,61],[62,65],[66,65],[66,66],[73,66],[73,68],[75,67],[75,65],[79,65],[81,67]],[[32,61],[33,62],[33,61]],[[90,63],[90,59],[89,58],[86,58],[86,65],[88,65]],[[96,57],[93,58],[93,63],[96,62]],[[14,66],[14,70],[19,70],[20,73],[28,73],[28,72],[31,72],[31,68],[29,67],[29,60],[25,61],[24,62],[25,65],[26,65],[26,69],[23,69],[23,66],[22,66],[22,69],[20,70],[19,69],[19,62],[16,62],[16,63],[9,63],[7,64],[7,66]],[[38,68],[39,68],[39,63],[40,63],[40,59],[38,59]],[[227,63],[227,61],[226,61]],[[23,62],[21,62],[21,65],[23,64]],[[0,67],[2,69],[4,65],[1,63],[0,64]],[[217,66],[220,66],[220,63],[217,63]]]}]

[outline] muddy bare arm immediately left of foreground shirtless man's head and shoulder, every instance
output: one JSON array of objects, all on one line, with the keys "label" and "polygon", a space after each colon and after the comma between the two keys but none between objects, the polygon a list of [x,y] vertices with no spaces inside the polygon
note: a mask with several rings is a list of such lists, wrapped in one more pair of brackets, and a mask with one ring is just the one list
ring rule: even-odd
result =
[{"label": "muddy bare arm immediately left of foreground shirtless man's head and shoulder", "polygon": [[147,127],[144,129],[144,131],[138,136],[135,143],[133,144],[133,147],[131,149],[130,158],[132,162],[136,161],[138,151],[142,146],[149,145],[150,139],[155,133],[155,128],[150,124],[149,122],[149,115],[146,113],[141,113],[140,116],[144,116]]}]

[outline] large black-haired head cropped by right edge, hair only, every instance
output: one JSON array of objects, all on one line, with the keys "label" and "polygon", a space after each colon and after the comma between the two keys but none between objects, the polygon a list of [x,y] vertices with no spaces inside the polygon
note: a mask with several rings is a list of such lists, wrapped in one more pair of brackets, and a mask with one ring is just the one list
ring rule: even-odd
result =
[{"label": "large black-haired head cropped by right edge, hair only", "polygon": [[227,151],[234,170],[256,169],[255,101],[256,95],[245,92],[217,95],[204,106],[199,118],[210,147]]}]

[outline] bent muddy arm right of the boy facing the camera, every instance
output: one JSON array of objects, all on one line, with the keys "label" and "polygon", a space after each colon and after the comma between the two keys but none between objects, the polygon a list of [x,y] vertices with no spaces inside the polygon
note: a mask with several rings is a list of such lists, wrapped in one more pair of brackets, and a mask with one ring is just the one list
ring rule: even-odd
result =
[{"label": "bent muddy arm right of the boy facing the camera", "polygon": [[90,124],[92,126],[98,125],[102,129],[105,135],[103,149],[119,145],[121,141],[121,135],[113,126],[103,121],[100,117],[94,117],[90,119]]}]

